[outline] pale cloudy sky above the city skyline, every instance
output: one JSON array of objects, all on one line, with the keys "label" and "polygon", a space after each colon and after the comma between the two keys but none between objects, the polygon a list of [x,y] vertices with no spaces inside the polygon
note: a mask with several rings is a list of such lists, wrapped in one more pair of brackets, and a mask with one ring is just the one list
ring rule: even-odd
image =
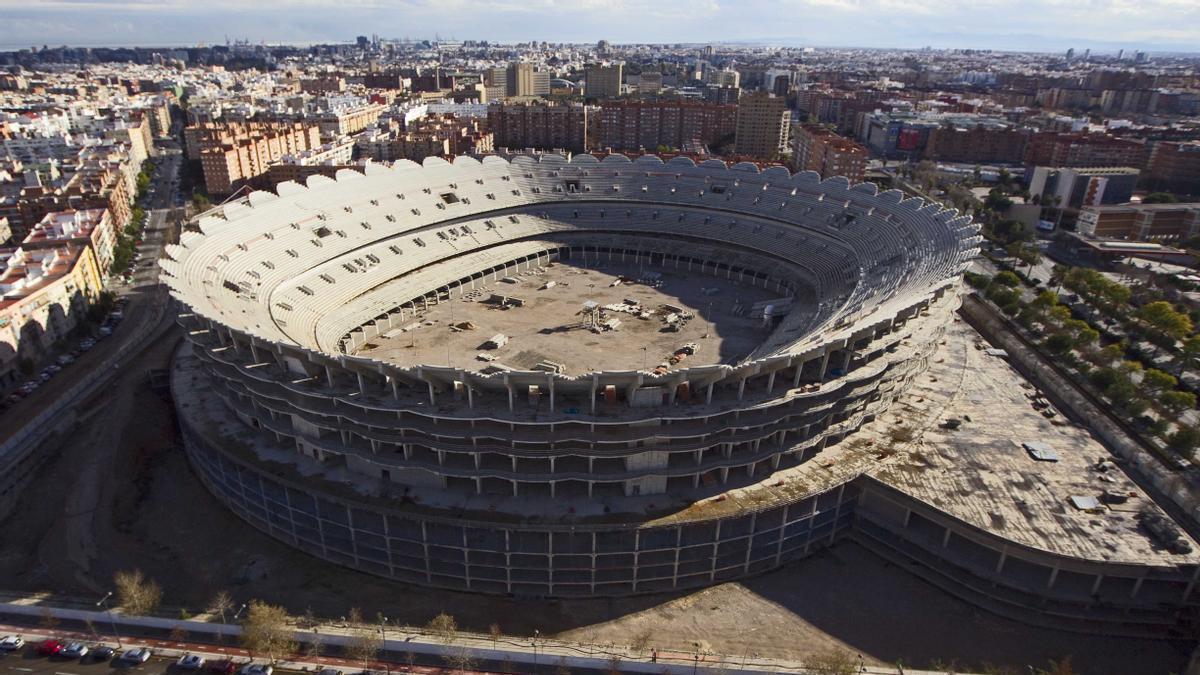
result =
[{"label": "pale cloudy sky above the city skyline", "polygon": [[1200,0],[0,0],[0,47],[755,42],[1200,52]]}]

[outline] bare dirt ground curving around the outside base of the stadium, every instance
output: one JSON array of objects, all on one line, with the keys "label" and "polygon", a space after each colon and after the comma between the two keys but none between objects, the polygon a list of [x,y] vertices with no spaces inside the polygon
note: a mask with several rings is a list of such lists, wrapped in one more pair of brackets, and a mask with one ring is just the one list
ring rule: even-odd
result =
[{"label": "bare dirt ground curving around the outside base of the stadium", "polygon": [[[140,568],[164,603],[200,611],[216,591],[301,614],[419,625],[439,611],[486,632],[660,649],[694,643],[727,655],[800,658],[845,645],[870,662],[985,663],[1026,671],[1072,656],[1081,673],[1180,671],[1186,646],[1030,628],[974,610],[851,543],[744,583],[679,595],[534,602],[402,586],[305,556],[220,507],[192,474],[170,404],[149,388],[175,339],[148,350],[90,402],[74,441],[54,452],[17,513],[0,524],[0,579],[11,590],[98,597],[113,573]],[[252,579],[247,579],[252,578]]]}]

